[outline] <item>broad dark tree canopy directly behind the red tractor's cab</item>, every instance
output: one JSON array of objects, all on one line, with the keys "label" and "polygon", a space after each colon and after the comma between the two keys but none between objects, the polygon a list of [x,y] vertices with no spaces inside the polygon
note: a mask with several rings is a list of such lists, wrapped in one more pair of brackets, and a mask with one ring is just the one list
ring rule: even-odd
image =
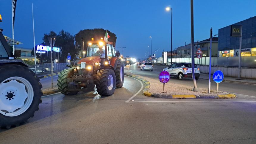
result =
[{"label": "broad dark tree canopy directly behind the red tractor's cab", "polygon": [[[101,37],[104,38],[105,33],[105,29],[84,29],[79,31],[75,35],[78,50],[81,50],[82,38],[84,39],[84,48],[87,48],[87,42],[90,41],[92,37],[94,38],[94,40],[99,40]],[[109,30],[107,30],[107,33],[110,36],[109,41],[115,43],[117,38],[116,35]]]}]

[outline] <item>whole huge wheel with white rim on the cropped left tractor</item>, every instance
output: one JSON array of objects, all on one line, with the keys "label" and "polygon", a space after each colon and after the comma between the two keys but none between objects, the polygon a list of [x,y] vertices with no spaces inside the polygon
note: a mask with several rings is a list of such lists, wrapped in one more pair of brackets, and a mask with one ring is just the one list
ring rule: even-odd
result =
[{"label": "whole huge wheel with white rim on the cropped left tractor", "polygon": [[9,129],[34,116],[42,102],[42,85],[34,72],[20,65],[1,66],[0,75],[0,126]]}]

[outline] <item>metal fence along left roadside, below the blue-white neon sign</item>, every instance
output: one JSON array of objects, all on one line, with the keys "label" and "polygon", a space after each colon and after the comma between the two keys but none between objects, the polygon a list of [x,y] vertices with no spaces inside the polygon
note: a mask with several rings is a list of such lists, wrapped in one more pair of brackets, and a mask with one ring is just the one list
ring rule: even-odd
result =
[{"label": "metal fence along left roadside, below the blue-white neon sign", "polygon": [[[55,63],[53,64],[53,72],[60,72],[63,69],[66,69],[68,63]],[[29,69],[31,69],[33,72],[36,74],[40,73],[50,73],[51,72],[51,63],[46,63],[46,64],[37,64],[36,65],[36,71],[35,71],[35,65],[30,65]]]}]

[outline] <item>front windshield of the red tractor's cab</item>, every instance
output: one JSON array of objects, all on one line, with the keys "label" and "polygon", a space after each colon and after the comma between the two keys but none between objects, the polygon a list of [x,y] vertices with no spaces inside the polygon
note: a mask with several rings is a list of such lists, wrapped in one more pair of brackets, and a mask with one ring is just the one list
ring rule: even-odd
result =
[{"label": "front windshield of the red tractor's cab", "polygon": [[99,46],[97,44],[88,45],[86,57],[89,56],[100,56],[105,58],[105,46]]}]

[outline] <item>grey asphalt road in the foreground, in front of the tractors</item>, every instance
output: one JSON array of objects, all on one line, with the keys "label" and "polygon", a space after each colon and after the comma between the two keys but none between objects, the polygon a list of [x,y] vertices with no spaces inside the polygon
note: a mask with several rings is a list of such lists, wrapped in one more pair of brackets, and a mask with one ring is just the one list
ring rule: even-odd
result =
[{"label": "grey asphalt road in the foreground, in front of the tractors", "polygon": [[28,123],[0,130],[1,143],[256,143],[254,96],[158,99],[143,87],[126,76],[112,96],[43,97]]}]

